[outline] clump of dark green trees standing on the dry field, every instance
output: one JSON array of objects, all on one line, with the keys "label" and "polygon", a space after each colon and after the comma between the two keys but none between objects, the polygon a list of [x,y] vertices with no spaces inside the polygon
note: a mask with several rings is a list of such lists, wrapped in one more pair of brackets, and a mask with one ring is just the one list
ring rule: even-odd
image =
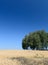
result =
[{"label": "clump of dark green trees standing on the dry field", "polygon": [[47,50],[48,33],[44,30],[29,33],[22,40],[23,49]]}]

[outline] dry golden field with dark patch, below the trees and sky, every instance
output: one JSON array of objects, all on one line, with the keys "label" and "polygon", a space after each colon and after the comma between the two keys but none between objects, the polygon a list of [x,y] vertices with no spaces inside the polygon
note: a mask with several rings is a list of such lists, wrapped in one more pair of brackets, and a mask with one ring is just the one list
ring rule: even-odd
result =
[{"label": "dry golden field with dark patch, below the trees and sky", "polygon": [[0,50],[0,65],[48,65],[48,51]]}]

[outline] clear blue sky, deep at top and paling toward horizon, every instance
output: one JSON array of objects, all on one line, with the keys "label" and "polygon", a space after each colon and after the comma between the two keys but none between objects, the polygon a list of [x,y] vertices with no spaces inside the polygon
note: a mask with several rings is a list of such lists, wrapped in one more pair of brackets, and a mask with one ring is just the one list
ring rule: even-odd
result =
[{"label": "clear blue sky, deep at top and paling toward horizon", "polygon": [[22,50],[22,39],[48,32],[48,0],[0,0],[0,49]]}]

